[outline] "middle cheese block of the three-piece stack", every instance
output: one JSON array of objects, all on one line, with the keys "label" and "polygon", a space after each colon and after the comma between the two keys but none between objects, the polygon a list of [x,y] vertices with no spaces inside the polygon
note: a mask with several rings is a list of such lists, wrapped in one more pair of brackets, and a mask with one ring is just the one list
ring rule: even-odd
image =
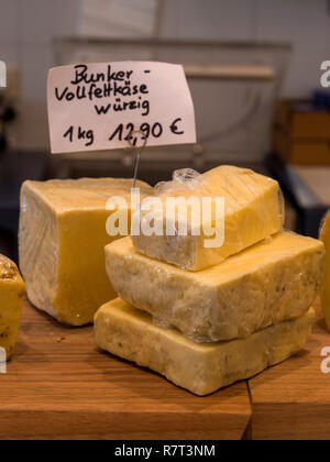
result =
[{"label": "middle cheese block of the three-piece stack", "polygon": [[280,232],[197,273],[151,260],[130,238],[106,248],[107,271],[125,301],[195,341],[244,338],[301,316],[317,297],[323,244]]}]

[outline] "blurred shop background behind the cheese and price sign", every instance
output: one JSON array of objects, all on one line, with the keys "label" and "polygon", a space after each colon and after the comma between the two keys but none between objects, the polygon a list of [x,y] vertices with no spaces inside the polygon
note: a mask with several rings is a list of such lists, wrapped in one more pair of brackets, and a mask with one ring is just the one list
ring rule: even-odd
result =
[{"label": "blurred shop background behind the cheese and price sign", "polygon": [[77,62],[185,66],[196,146],[146,148],[139,177],[230,163],[279,180],[286,227],[317,237],[330,207],[328,0],[0,0],[0,253],[16,260],[25,179],[132,177],[135,153],[50,155],[46,77]]}]

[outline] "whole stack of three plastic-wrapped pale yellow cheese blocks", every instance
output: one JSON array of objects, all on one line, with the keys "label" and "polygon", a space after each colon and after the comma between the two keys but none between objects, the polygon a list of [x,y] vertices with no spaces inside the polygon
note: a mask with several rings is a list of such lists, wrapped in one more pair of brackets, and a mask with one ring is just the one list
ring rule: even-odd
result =
[{"label": "whole stack of three plastic-wrapped pale yellow cheese blocks", "polygon": [[163,185],[161,200],[223,197],[223,245],[205,248],[202,227],[200,235],[141,234],[108,245],[107,272],[120,298],[99,309],[95,333],[101,349],[202,396],[304,348],[324,250],[282,231],[273,179],[222,166],[202,176],[200,190],[191,182]]}]

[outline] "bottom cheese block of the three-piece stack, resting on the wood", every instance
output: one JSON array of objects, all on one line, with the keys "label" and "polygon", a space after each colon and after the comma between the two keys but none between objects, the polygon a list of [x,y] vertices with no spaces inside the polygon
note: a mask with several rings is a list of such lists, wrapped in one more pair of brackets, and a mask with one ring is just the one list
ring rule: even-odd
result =
[{"label": "bottom cheese block of the three-piece stack, resting on the wood", "polygon": [[99,309],[95,337],[99,348],[164,375],[204,396],[250,378],[304,349],[315,319],[310,309],[246,339],[195,343],[176,330],[165,330],[148,315],[118,298]]}]

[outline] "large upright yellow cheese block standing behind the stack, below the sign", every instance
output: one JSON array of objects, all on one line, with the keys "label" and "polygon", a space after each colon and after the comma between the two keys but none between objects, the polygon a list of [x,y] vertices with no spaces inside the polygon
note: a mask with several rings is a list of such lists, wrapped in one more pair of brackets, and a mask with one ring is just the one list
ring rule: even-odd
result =
[{"label": "large upright yellow cheese block standing behind the stack, below the sign", "polygon": [[[105,267],[108,199],[127,200],[131,179],[26,182],[21,191],[20,266],[30,300],[58,321],[92,322],[100,305],[117,295]],[[141,195],[152,188],[139,183]],[[123,212],[125,210],[122,210]],[[130,218],[130,217],[129,217]]]}]

